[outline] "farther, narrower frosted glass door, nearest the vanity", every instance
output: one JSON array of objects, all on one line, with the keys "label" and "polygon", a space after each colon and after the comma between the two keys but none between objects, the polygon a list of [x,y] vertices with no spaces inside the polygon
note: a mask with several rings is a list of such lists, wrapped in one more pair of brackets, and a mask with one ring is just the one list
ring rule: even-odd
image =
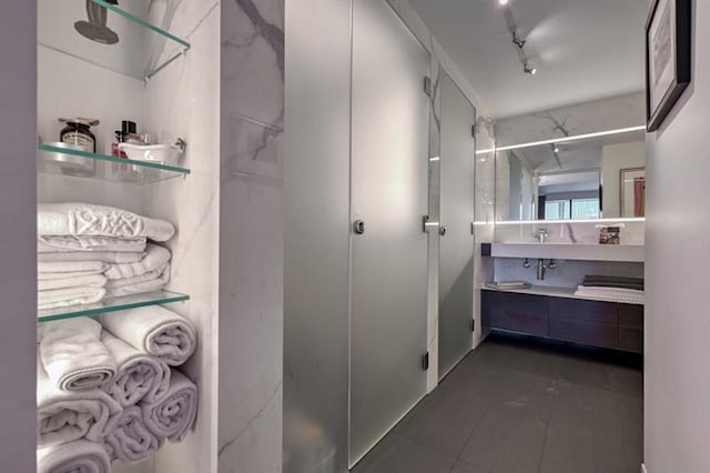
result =
[{"label": "farther, narrower frosted glass door, nearest the vanity", "polygon": [[476,110],[452,79],[442,81],[439,379],[473,346],[474,153]]}]

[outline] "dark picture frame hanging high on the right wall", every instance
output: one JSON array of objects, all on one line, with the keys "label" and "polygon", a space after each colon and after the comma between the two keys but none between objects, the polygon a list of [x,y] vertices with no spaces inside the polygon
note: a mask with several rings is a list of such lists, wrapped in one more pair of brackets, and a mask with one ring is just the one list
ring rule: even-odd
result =
[{"label": "dark picture frame hanging high on the right wall", "polygon": [[656,131],[691,81],[692,0],[653,0],[646,21],[646,130]]}]

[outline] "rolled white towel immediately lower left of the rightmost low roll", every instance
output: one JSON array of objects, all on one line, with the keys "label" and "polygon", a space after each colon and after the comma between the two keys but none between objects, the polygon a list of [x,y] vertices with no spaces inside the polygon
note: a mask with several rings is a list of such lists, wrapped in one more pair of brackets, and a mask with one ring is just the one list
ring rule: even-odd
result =
[{"label": "rolled white towel immediately lower left of the rightmost low roll", "polygon": [[155,436],[145,426],[141,407],[132,406],[119,414],[104,442],[111,460],[138,463],[158,452],[164,439]]}]

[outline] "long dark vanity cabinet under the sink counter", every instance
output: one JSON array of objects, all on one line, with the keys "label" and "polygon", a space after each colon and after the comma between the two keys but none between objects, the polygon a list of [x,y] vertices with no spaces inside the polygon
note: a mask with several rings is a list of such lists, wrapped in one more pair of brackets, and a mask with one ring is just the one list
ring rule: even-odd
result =
[{"label": "long dark vanity cabinet under the sink counter", "polygon": [[643,306],[616,302],[480,291],[485,329],[641,353]]}]

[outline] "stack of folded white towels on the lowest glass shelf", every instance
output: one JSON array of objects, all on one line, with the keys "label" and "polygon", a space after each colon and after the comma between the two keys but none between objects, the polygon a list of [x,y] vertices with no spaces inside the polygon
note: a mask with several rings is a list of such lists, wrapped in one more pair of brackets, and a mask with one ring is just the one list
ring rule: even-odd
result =
[{"label": "stack of folded white towels on the lowest glass shelf", "polygon": [[162,289],[175,228],[111,207],[38,205],[38,309],[48,311]]}]

